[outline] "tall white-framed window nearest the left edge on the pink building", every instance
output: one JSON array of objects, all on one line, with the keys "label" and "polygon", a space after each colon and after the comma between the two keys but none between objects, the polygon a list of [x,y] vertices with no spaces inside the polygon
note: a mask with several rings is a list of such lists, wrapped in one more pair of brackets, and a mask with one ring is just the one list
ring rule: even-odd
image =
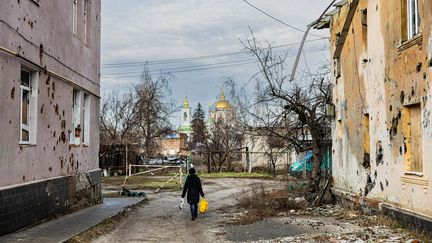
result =
[{"label": "tall white-framed window nearest the left edge on the pink building", "polygon": [[21,69],[20,84],[20,143],[36,143],[36,92],[37,75],[25,69]]}]

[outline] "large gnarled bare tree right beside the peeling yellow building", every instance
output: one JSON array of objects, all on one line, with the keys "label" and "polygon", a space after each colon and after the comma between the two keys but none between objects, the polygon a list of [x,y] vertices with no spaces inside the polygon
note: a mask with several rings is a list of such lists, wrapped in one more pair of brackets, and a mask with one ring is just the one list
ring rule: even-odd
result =
[{"label": "large gnarled bare tree right beside the peeling yellow building", "polygon": [[317,192],[320,165],[330,136],[326,116],[326,105],[331,100],[328,68],[290,81],[285,68],[286,54],[274,54],[270,44],[261,46],[253,33],[243,45],[256,58],[261,76],[257,79],[256,101],[249,107],[248,114],[252,117],[249,119],[268,128],[272,136],[286,139],[288,146],[313,151],[311,191]]}]

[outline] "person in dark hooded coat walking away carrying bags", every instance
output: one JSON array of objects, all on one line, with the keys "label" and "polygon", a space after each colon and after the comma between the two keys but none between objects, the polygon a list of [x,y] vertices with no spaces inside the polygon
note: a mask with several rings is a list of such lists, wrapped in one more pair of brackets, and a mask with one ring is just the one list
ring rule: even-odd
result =
[{"label": "person in dark hooded coat walking away carrying bags", "polygon": [[200,195],[201,197],[204,197],[201,180],[195,173],[196,171],[194,168],[189,169],[189,175],[186,178],[186,183],[182,193],[182,198],[184,198],[187,192],[187,202],[190,205],[192,215],[191,220],[195,220],[198,216],[198,202]]}]

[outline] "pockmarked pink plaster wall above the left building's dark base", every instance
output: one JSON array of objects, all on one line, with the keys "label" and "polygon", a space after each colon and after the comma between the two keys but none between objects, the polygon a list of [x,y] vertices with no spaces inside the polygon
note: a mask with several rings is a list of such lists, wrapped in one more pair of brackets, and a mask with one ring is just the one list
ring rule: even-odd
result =
[{"label": "pockmarked pink plaster wall above the left building's dark base", "polygon": [[[98,169],[101,2],[90,1],[87,41],[85,1],[77,1],[76,35],[73,2],[4,0],[1,3],[0,191],[53,178],[78,178]],[[31,105],[35,107],[30,123],[35,136],[30,144],[19,143],[23,68],[31,71],[34,78]],[[70,134],[74,134],[74,89],[89,95],[91,132],[86,145],[69,143]],[[84,124],[82,114],[79,123]],[[75,192],[91,187],[79,180],[75,184]]]}]

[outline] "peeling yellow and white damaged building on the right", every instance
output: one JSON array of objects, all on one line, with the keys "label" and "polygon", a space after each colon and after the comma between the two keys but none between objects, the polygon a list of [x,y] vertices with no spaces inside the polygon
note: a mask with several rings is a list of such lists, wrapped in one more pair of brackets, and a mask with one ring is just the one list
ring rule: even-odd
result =
[{"label": "peeling yellow and white damaged building on the right", "polygon": [[432,2],[348,0],[329,28],[333,192],[413,222],[432,219]]}]

